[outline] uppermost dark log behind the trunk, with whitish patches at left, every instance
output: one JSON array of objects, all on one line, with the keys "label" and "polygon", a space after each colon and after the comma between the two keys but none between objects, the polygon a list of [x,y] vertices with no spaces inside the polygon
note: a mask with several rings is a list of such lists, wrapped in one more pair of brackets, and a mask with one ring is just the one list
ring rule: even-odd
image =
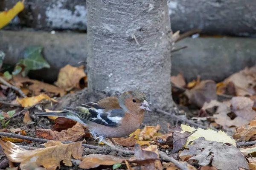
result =
[{"label": "uppermost dark log behind the trunk, with whitish patches at left", "polygon": [[[17,0],[0,0],[0,10]],[[201,28],[203,34],[253,36],[256,30],[255,0],[169,0],[172,30]],[[86,0],[28,0],[5,29],[27,26],[35,29],[86,30]]]}]

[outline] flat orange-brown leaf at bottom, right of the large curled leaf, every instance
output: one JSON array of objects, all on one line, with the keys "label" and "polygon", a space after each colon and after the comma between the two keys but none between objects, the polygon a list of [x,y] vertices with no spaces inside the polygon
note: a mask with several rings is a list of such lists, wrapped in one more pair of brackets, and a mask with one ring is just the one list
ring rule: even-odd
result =
[{"label": "flat orange-brown leaf at bottom, right of the large curled leaf", "polygon": [[125,159],[120,159],[111,155],[90,154],[82,157],[81,160],[83,161],[79,164],[79,167],[83,169],[90,169],[99,167],[100,165],[122,163]]}]

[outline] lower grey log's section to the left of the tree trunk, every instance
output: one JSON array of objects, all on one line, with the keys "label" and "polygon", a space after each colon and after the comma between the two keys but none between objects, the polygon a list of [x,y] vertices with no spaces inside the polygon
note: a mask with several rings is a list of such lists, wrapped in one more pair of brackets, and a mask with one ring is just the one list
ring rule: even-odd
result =
[{"label": "lower grey log's section to the left of the tree trunk", "polygon": [[31,78],[55,81],[60,68],[67,64],[78,66],[79,61],[86,61],[86,34],[0,31],[0,50],[6,53],[4,63],[16,65],[30,45],[43,46],[42,53],[50,64],[49,69],[30,71]]}]

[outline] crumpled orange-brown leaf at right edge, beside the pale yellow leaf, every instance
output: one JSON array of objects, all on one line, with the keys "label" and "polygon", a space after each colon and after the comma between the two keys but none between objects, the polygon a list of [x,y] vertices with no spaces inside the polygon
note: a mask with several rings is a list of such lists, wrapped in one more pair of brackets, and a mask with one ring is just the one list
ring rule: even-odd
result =
[{"label": "crumpled orange-brown leaf at right edge, beside the pale yellow leaf", "polygon": [[239,127],[237,133],[233,135],[234,139],[238,139],[239,141],[249,141],[251,137],[256,135],[256,126],[242,126]]}]

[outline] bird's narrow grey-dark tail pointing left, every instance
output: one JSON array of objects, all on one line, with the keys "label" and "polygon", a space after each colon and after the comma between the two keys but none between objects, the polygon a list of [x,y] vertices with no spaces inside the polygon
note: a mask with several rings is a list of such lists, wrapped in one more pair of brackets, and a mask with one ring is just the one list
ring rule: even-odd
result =
[{"label": "bird's narrow grey-dark tail pointing left", "polygon": [[34,116],[57,116],[57,117],[65,117],[68,119],[72,119],[76,122],[86,124],[85,122],[82,122],[79,117],[74,114],[70,113],[68,111],[61,111],[61,112],[41,112],[41,113],[35,113]]}]

